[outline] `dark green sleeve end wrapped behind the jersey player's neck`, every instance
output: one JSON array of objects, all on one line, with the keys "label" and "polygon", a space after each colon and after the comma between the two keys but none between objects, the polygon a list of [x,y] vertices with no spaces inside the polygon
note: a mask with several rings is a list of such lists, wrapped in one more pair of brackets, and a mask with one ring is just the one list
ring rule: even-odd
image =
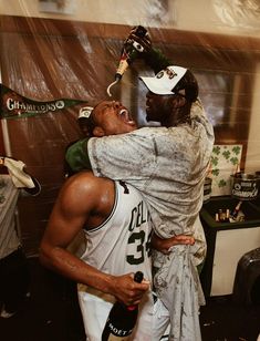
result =
[{"label": "dark green sleeve end wrapped behind the jersey player's neck", "polygon": [[92,170],[91,162],[87,154],[87,142],[90,137],[80,140],[71,145],[66,153],[65,159],[74,173],[83,169]]}]

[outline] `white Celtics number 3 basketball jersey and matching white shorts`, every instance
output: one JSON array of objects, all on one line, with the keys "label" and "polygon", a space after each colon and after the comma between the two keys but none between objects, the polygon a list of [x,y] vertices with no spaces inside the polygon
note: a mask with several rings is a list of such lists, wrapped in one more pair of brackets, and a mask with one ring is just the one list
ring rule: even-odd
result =
[{"label": "white Celtics number 3 basketball jersey and matching white shorts", "polygon": [[[111,215],[98,227],[84,230],[86,250],[81,257],[89,265],[110,275],[142,271],[152,283],[152,224],[147,206],[138,190],[115,183],[115,203]],[[101,340],[101,334],[114,303],[114,297],[79,285],[79,300],[87,340]],[[139,306],[139,318],[131,340],[150,340],[153,298],[149,291]]]}]

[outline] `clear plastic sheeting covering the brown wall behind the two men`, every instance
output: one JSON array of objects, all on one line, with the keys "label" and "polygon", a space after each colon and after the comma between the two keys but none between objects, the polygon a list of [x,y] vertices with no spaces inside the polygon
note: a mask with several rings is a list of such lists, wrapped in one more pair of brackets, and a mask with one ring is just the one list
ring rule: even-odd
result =
[{"label": "clear plastic sheeting covering the brown wall behind the two men", "polygon": [[[148,30],[173,64],[196,74],[216,144],[241,146],[236,166],[260,169],[259,1],[0,0],[0,12],[3,153],[21,159],[42,186],[37,197],[19,198],[28,256],[38,255],[64,182],[65,148],[81,136],[79,110],[108,96],[123,42],[135,25]],[[146,91],[138,75],[150,73],[136,60],[111,89],[111,99],[128,106],[139,125],[146,125]],[[49,104],[56,102],[63,104],[52,111]],[[12,117],[3,115],[7,103]]]}]

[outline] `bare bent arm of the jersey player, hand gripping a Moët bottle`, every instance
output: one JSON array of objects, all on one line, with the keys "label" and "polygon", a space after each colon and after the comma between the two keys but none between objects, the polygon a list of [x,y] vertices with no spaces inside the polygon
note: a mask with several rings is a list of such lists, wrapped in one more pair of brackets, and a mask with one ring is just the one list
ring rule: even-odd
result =
[{"label": "bare bent arm of the jersey player, hand gripping a Mo\u00ebt bottle", "polygon": [[92,174],[79,174],[63,186],[41,241],[40,260],[45,267],[113,294],[125,304],[139,303],[149,288],[147,282],[136,283],[133,273],[118,277],[104,273],[66,250],[98,200],[96,178],[95,182],[93,178]]}]

